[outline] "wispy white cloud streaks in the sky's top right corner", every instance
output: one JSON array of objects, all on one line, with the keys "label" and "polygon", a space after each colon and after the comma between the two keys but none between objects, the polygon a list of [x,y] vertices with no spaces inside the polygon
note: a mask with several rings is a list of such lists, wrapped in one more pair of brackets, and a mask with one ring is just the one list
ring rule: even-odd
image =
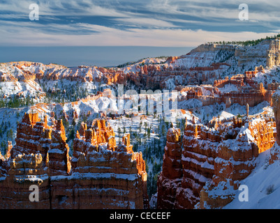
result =
[{"label": "wispy white cloud streaks in the sky's top right corner", "polygon": [[[237,0],[153,0],[147,8],[154,13],[165,15],[188,15],[208,19],[238,19],[240,1]],[[262,22],[279,22],[280,5],[269,0],[249,0],[249,20]],[[221,21],[222,22],[222,21]]]}]

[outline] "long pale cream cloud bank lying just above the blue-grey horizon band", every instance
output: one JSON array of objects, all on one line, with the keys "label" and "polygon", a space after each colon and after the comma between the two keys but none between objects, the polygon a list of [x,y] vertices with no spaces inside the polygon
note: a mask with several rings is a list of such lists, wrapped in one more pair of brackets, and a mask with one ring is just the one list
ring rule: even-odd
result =
[{"label": "long pale cream cloud bank lying just above the blue-grey horizon band", "polygon": [[[12,26],[13,23],[10,23]],[[28,22],[24,23],[27,25]],[[95,24],[53,24],[52,29],[64,29],[70,33],[46,33],[38,31],[43,25],[33,29],[19,26],[1,33],[1,46],[155,46],[155,47],[195,47],[208,41],[249,40],[272,36],[275,33],[219,32],[183,29],[116,29]],[[2,24],[0,24],[1,29]],[[49,27],[50,29],[50,27]],[[75,33],[84,29],[87,34]],[[74,31],[73,31],[74,30]],[[73,32],[71,32],[73,31]]]}]

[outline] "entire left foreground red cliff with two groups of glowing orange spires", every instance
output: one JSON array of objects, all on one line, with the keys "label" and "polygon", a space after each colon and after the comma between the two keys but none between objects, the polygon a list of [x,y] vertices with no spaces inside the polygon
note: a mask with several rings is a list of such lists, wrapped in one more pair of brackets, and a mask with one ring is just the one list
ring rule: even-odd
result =
[{"label": "entire left foreground red cliff with two groups of glowing orange spires", "polygon": [[[82,123],[68,155],[61,121],[24,114],[10,157],[0,160],[1,208],[147,208],[147,172],[129,134],[116,145],[105,119]],[[29,201],[37,185],[39,201]]]}]

